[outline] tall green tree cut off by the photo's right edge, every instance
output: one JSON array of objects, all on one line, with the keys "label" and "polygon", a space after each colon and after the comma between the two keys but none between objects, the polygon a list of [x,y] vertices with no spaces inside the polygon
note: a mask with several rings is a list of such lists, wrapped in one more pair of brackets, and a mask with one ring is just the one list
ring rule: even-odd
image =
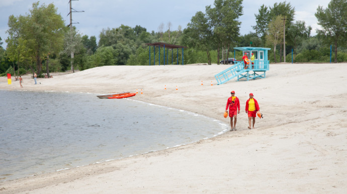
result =
[{"label": "tall green tree cut off by the photo's right edge", "polygon": [[337,43],[345,44],[347,32],[347,1],[331,0],[328,8],[318,6],[315,17],[322,30],[317,30],[319,35],[325,37],[325,43],[334,44],[334,62],[337,63]]}]

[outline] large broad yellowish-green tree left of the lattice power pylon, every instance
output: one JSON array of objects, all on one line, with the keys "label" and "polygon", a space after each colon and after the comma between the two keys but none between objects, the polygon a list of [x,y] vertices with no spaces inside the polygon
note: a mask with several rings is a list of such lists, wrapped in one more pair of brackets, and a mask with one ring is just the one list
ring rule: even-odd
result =
[{"label": "large broad yellowish-green tree left of the lattice power pylon", "polygon": [[64,28],[62,17],[57,14],[53,4],[47,6],[43,4],[39,7],[37,2],[33,3],[30,14],[18,18],[13,15],[9,17],[7,32],[14,36],[10,36],[7,42],[12,41],[12,38],[22,38],[25,41],[25,47],[29,50],[28,55],[34,58],[31,61],[36,63],[37,74],[41,74],[42,59],[48,53],[55,52],[56,46],[61,45],[59,41],[62,40]]}]

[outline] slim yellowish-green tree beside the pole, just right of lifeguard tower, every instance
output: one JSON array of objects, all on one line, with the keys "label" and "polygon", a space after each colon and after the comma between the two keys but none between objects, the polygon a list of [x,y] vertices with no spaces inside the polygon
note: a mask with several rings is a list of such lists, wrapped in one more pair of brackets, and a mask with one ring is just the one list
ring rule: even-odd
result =
[{"label": "slim yellowish-green tree beside the pole, just right of lifeguard tower", "polygon": [[269,28],[267,32],[267,43],[273,45],[274,47],[274,59],[276,60],[276,46],[279,44],[279,40],[283,38],[283,22],[282,16],[277,16],[275,20],[269,23]]}]

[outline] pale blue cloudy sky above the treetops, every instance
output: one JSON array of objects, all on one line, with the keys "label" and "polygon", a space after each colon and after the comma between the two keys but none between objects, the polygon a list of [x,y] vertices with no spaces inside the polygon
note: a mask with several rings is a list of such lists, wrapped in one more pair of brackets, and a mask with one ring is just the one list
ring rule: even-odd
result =
[{"label": "pale blue cloudy sky above the treetops", "polygon": [[[0,37],[3,39],[3,47],[6,48],[6,38],[8,34],[9,16],[25,16],[32,9],[34,0],[0,0]],[[69,24],[69,0],[41,0],[40,5],[53,3],[58,14]],[[281,0],[244,0],[243,15],[239,20],[242,22],[240,34],[245,35],[254,32],[251,26],[255,26],[254,14],[258,14],[258,9],[264,4],[273,7]],[[318,5],[327,8],[329,0],[287,1],[295,8],[295,20],[305,21],[312,27],[311,35],[316,35],[317,19],[314,13]],[[314,3],[312,3],[314,2]],[[171,29],[177,30],[180,25],[182,29],[187,27],[191,18],[196,12],[205,13],[205,7],[212,5],[214,0],[72,0],[72,8],[82,13],[72,13],[73,24],[82,35],[96,36],[99,40],[100,32],[107,28],[117,28],[126,25],[135,27],[140,25],[147,29],[147,32],[158,31],[158,26],[163,23],[164,31],[167,30],[167,23],[171,22]]]}]

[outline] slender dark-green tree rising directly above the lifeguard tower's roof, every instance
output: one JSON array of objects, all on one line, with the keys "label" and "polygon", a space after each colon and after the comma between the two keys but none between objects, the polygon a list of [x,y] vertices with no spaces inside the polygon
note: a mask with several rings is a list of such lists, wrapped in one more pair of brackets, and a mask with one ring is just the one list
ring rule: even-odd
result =
[{"label": "slender dark-green tree rising directly above the lifeguard tower's roof", "polygon": [[259,35],[263,41],[263,47],[265,47],[265,37],[268,30],[268,25],[270,22],[270,10],[268,7],[266,7],[264,4],[261,6],[261,8],[258,10],[259,14],[254,14],[256,25],[252,26],[253,30],[255,30],[255,33]]}]

